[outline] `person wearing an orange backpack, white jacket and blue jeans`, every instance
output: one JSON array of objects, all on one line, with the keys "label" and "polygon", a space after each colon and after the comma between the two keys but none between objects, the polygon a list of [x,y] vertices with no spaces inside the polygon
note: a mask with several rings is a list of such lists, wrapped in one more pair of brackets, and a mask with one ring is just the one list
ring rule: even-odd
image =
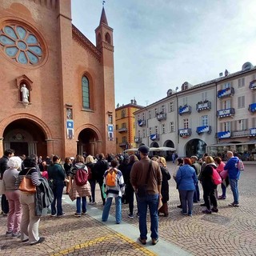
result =
[{"label": "person wearing an orange backpack, white jacket and blue jeans", "polygon": [[102,212],[102,222],[106,222],[110,214],[112,200],[115,200],[115,220],[119,224],[122,219],[122,194],[125,193],[125,183],[122,172],[117,169],[118,161],[111,160],[110,169],[104,174],[104,186],[106,190],[106,204]]}]

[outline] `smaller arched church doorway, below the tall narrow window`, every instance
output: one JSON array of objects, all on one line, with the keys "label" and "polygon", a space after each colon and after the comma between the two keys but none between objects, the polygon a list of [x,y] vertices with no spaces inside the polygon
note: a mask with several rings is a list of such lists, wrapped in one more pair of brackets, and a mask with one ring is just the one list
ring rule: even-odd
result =
[{"label": "smaller arched church doorway, below the tall narrow window", "polygon": [[96,155],[102,153],[101,142],[98,140],[98,134],[91,128],[83,129],[78,135],[77,154]]}]

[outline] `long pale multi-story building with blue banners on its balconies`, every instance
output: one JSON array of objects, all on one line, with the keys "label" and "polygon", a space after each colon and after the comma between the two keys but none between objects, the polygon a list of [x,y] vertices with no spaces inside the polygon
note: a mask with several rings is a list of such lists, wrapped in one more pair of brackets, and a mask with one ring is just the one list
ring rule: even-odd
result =
[{"label": "long pale multi-story building with blue banners on its balconies", "polygon": [[166,98],[136,111],[137,146],[173,147],[180,156],[254,153],[255,76],[256,68],[246,62],[234,74],[226,71],[196,86],[184,82],[178,92],[168,90]]}]

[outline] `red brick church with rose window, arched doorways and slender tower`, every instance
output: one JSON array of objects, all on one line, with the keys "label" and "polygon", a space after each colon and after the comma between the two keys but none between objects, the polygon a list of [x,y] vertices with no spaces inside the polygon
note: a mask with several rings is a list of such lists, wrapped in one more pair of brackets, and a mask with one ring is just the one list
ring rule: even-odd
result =
[{"label": "red brick church with rose window, arched doorways and slender tower", "polygon": [[115,151],[113,30],[103,8],[94,46],[70,5],[0,2],[0,155]]}]

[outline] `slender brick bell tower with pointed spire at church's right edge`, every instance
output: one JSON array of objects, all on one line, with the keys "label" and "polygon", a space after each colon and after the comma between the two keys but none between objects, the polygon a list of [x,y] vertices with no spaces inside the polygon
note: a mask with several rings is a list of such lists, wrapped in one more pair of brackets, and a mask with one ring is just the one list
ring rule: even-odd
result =
[{"label": "slender brick bell tower with pointed spire at church's right edge", "polygon": [[[108,25],[104,9],[98,27],[95,30],[96,47],[102,53],[101,56],[101,73],[102,73],[102,120],[104,120],[106,153],[116,151],[114,138],[114,46],[113,46],[113,29]],[[103,143],[104,144],[104,143]]]}]

